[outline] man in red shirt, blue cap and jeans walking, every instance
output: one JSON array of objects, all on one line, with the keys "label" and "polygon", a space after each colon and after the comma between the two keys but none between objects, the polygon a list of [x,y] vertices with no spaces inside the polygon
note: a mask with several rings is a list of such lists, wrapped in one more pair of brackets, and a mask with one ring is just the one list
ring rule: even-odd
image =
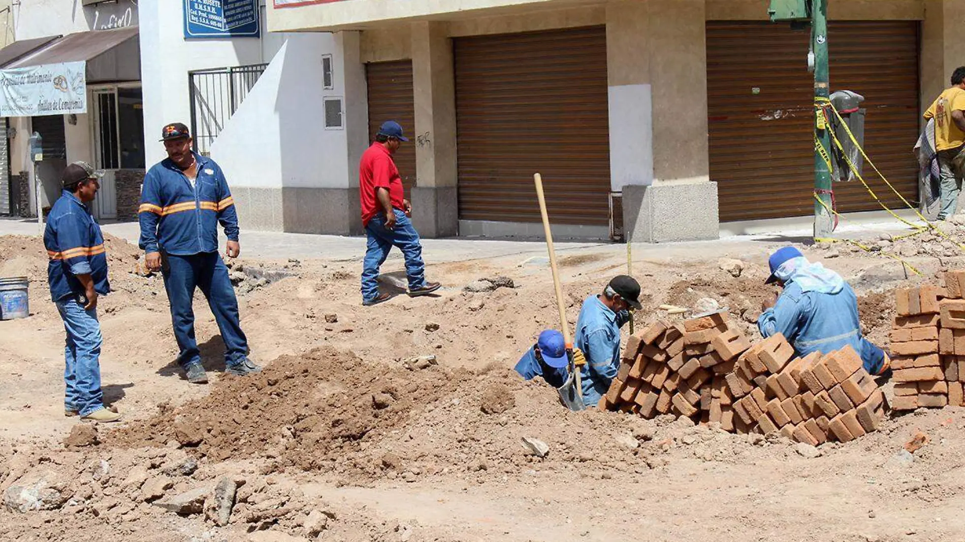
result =
[{"label": "man in red shirt, blue cap and jeans walking", "polygon": [[412,226],[412,205],[405,199],[402,179],[392,155],[408,139],[399,122],[382,124],[372,147],[362,154],[359,166],[359,197],[362,225],[369,236],[362,264],[362,305],[371,307],[388,301],[392,295],[378,292],[378,268],[399,247],[405,257],[409,295],[426,295],[439,289],[439,283],[426,281],[419,232]]}]

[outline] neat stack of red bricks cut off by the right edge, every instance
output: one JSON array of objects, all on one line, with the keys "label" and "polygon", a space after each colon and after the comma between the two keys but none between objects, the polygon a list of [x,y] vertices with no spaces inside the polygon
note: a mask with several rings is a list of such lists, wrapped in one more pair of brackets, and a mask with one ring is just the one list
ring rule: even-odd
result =
[{"label": "neat stack of red bricks cut off by the right edge", "polygon": [[896,291],[895,410],[965,404],[965,271],[946,273],[945,285]]}]

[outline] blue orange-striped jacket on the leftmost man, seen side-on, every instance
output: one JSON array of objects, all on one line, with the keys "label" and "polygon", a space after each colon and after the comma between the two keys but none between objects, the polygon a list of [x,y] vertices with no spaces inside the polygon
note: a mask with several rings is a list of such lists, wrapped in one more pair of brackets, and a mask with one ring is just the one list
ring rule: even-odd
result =
[{"label": "blue orange-striped jacket on the leftmost man, seen side-on", "polygon": [[90,275],[99,294],[111,291],[100,226],[91,209],[68,190],[54,202],[47,215],[43,246],[49,258],[47,285],[54,301],[84,294],[84,285],[77,280],[77,275]]}]

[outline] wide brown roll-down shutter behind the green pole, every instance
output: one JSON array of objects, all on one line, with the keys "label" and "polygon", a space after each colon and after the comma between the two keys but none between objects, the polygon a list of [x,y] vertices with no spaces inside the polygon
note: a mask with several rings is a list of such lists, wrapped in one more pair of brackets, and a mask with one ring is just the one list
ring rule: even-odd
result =
[{"label": "wide brown roll-down shutter behind the green pole", "polygon": [[[809,39],[809,31],[786,24],[707,23],[710,178],[718,183],[722,222],[813,213]],[[828,43],[832,91],[865,96],[865,148],[917,202],[918,22],[832,21]],[[885,203],[903,205],[867,163],[864,175]],[[833,188],[841,212],[881,208],[860,181]]]}]

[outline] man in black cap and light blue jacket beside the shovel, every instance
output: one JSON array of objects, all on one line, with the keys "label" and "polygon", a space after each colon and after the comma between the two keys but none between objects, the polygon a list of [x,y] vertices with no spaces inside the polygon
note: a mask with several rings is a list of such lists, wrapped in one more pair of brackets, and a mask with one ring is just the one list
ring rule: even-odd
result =
[{"label": "man in black cap and light blue jacket beside the shovel", "polygon": [[587,364],[580,369],[583,404],[594,407],[610,389],[620,368],[620,328],[639,311],[640,284],[632,277],[615,277],[599,295],[583,302],[576,319],[576,344]]}]

